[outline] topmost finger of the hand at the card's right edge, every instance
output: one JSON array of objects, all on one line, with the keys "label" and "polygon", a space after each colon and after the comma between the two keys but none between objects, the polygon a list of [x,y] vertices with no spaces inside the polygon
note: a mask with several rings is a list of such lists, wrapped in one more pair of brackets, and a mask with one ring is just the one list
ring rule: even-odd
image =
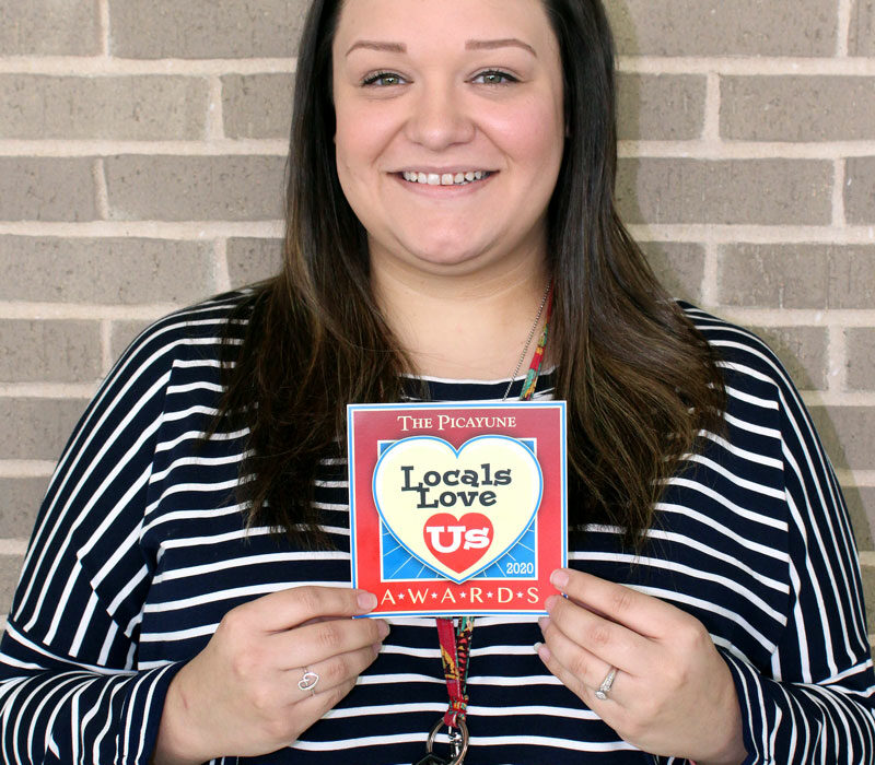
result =
[{"label": "topmost finger of the hand at the card's right edge", "polygon": [[645,637],[667,637],[678,619],[688,617],[657,598],[571,568],[556,569],[550,581],[573,601]]}]

